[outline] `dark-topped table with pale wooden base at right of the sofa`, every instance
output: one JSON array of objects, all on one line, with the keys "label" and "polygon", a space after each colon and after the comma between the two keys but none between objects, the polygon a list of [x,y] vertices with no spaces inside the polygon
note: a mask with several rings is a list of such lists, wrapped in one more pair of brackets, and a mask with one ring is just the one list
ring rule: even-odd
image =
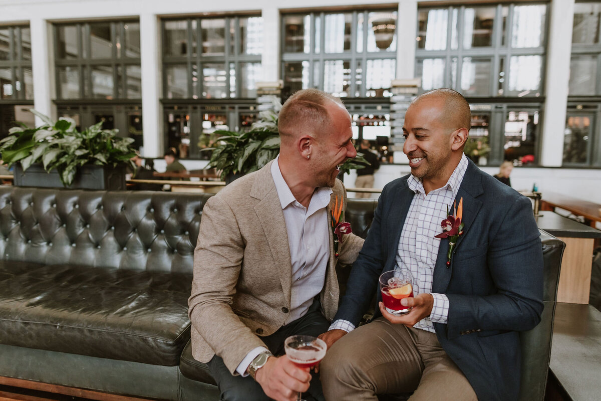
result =
[{"label": "dark-topped table with pale wooden base at right of the sofa", "polygon": [[588,304],[594,240],[601,238],[601,230],[548,210],[541,210],[536,222],[538,228],[566,243],[561,260],[557,302]]}]

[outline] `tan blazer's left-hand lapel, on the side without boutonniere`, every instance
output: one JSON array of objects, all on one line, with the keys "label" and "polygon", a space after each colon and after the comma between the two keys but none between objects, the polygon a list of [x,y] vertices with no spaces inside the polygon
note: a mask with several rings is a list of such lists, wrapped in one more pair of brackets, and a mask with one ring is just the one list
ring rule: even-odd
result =
[{"label": "tan blazer's left-hand lapel, on the side without boutonniere", "polygon": [[267,243],[269,243],[275,269],[284,291],[284,298],[289,305],[292,289],[290,245],[288,244],[284,212],[271,176],[271,165],[272,162],[269,162],[258,171],[257,179],[251,189],[251,196],[260,200],[255,206],[255,212],[261,227],[263,227]]}]

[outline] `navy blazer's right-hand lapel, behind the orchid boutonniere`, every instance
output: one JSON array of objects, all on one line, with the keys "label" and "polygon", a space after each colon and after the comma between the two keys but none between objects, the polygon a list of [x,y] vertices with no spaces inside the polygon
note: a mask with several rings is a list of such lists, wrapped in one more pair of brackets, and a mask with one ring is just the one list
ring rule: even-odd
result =
[{"label": "navy blazer's right-hand lapel, behind the orchid boutonniere", "polygon": [[457,239],[457,244],[453,249],[453,254],[451,254],[450,266],[447,266],[449,239],[445,238],[441,240],[432,284],[432,291],[435,293],[444,293],[447,290],[449,281],[451,280],[451,274],[453,273],[453,256],[457,251],[460,251],[465,234],[474,223],[478,212],[480,212],[482,202],[478,200],[477,197],[483,194],[483,192],[482,180],[477,174],[477,167],[472,161],[469,161],[468,168],[465,171],[465,176],[463,176],[463,181],[459,187],[459,191],[457,191],[456,197],[457,204],[459,204],[459,201],[463,198],[463,234]]}]

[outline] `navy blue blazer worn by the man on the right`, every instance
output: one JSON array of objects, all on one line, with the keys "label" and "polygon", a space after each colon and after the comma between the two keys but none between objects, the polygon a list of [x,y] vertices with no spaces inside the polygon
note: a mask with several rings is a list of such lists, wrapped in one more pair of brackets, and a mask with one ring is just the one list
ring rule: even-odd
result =
[{"label": "navy blue blazer worn by the man on the right", "polygon": [[[377,293],[378,277],[394,269],[401,230],[414,192],[407,178],[382,190],[373,223],[353,265],[334,317],[358,325]],[[463,234],[446,266],[442,239],[432,292],[448,296],[446,324],[434,323],[445,352],[480,401],[516,400],[520,385],[519,331],[534,328],[543,311],[543,253],[530,200],[469,162],[463,197]],[[441,228],[442,231],[442,228]],[[379,310],[376,310],[377,317]]]}]

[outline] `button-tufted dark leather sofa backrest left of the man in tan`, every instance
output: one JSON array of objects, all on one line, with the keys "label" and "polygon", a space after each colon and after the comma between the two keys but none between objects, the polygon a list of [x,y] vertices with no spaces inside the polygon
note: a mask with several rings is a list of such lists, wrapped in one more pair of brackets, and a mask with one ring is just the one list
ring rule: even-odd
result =
[{"label": "button-tufted dark leather sofa backrest left of the man in tan", "polygon": [[212,194],[0,187],[3,260],[192,273]]}]

